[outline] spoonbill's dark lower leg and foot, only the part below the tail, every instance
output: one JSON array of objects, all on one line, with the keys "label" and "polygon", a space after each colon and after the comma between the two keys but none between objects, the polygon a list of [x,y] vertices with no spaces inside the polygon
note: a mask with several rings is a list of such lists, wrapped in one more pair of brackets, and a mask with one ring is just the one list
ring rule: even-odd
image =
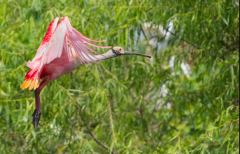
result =
[{"label": "spoonbill's dark lower leg and foot, only the part below the tail", "polygon": [[35,101],[36,101],[36,109],[33,112],[33,126],[38,129],[38,123],[41,117],[41,106],[40,106],[40,89],[35,90]]}]

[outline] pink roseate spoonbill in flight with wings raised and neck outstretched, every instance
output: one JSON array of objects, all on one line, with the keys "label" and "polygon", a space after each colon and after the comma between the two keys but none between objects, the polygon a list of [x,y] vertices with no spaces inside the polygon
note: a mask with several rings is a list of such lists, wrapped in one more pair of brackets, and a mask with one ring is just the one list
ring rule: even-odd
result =
[{"label": "pink roseate spoonbill in flight with wings raised and neck outstretched", "polygon": [[[74,29],[68,17],[56,17],[49,25],[47,33],[37,50],[32,61],[27,62],[30,70],[25,76],[25,81],[21,85],[22,89],[29,88],[35,90],[36,109],[33,113],[33,125],[38,129],[38,123],[41,116],[40,97],[41,90],[51,81],[68,74],[78,66],[84,64],[97,63],[98,61],[114,58],[120,55],[142,55],[124,50],[121,47],[113,47],[105,54],[100,54],[87,46],[111,48],[110,46],[99,46],[89,41],[92,40]],[[98,55],[93,55],[91,52]],[[40,80],[42,82],[40,83]]]}]

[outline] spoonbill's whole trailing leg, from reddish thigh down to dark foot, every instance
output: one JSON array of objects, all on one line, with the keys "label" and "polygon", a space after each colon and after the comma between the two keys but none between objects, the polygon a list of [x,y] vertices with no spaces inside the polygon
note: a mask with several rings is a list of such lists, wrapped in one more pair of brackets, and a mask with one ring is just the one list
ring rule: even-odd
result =
[{"label": "spoonbill's whole trailing leg, from reddish thigh down to dark foot", "polygon": [[48,84],[48,80],[44,80],[41,82],[40,86],[35,90],[35,101],[36,101],[36,109],[33,112],[33,126],[38,129],[38,123],[41,117],[41,106],[40,106],[40,92]]}]

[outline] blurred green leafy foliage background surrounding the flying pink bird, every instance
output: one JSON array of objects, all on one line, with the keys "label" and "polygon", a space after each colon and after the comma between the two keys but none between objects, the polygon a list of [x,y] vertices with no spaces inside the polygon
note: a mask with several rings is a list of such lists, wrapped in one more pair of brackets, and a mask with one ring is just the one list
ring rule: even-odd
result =
[{"label": "blurred green leafy foliage background surrounding the flying pink bird", "polygon": [[[237,0],[0,0],[1,153],[238,153],[238,7]],[[117,57],[51,82],[36,131],[34,92],[20,86],[57,16],[105,39],[100,45],[152,59]]]}]

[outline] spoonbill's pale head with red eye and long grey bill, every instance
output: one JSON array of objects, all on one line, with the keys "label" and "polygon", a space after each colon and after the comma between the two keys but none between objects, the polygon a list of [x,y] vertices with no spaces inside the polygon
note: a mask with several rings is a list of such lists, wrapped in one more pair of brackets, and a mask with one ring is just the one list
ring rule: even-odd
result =
[{"label": "spoonbill's pale head with red eye and long grey bill", "polygon": [[121,55],[137,55],[137,56],[143,56],[143,57],[151,58],[151,56],[130,52],[130,51],[124,50],[122,47],[118,47],[118,46],[113,47],[111,50],[108,51],[108,53],[109,53],[109,56],[110,56],[108,58],[121,56]]}]

